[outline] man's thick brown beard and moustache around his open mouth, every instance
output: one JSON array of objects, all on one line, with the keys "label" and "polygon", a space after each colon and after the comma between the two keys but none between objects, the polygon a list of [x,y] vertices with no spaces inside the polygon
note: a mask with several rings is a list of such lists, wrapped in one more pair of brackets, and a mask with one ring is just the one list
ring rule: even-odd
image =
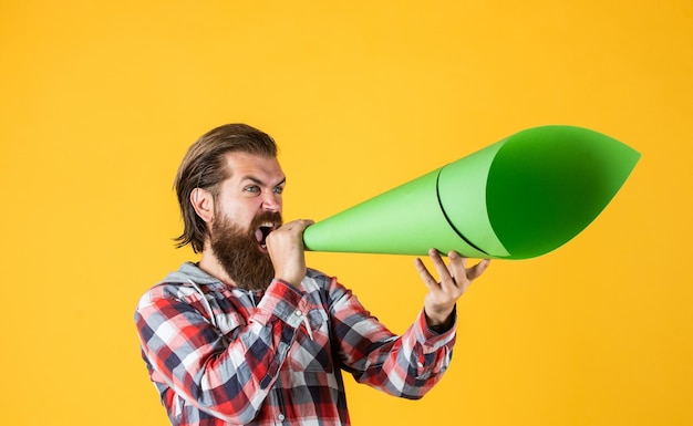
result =
[{"label": "man's thick brown beard and moustache around his open mouth", "polygon": [[267,211],[257,216],[247,230],[228,217],[211,226],[210,247],[219,264],[236,287],[266,290],[275,278],[275,267],[268,253],[260,251],[255,231],[266,221],[281,224],[281,215]]}]

